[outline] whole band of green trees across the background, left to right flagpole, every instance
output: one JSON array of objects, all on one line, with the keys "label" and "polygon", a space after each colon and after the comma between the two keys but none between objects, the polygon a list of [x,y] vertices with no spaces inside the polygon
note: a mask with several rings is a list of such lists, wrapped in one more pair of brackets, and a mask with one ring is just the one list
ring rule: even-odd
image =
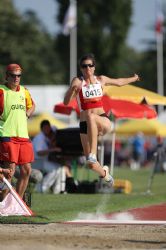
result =
[{"label": "whole band of green trees across the background, left to right flagpole", "polygon": [[[57,21],[62,25],[70,1],[55,2],[58,4]],[[77,0],[78,59],[87,52],[94,53],[98,74],[127,77],[139,73],[141,86],[157,92],[156,41],[145,41],[148,43],[148,49],[144,52],[126,46],[131,25],[132,2]],[[62,33],[55,36],[49,34],[35,12],[28,10],[21,15],[14,7],[13,0],[0,1],[0,31],[0,81],[4,80],[6,65],[15,62],[21,64],[24,69],[22,82],[26,85],[68,84],[69,36]],[[164,29],[164,69],[165,34]],[[165,74],[164,78],[166,79]]]}]

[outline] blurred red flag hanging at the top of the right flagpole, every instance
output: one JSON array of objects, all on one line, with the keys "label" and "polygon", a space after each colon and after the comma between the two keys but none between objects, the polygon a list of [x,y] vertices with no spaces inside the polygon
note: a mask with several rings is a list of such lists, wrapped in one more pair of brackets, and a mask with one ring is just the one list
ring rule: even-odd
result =
[{"label": "blurred red flag hanging at the top of the right flagpole", "polygon": [[162,35],[163,33],[163,23],[164,23],[164,15],[162,12],[161,2],[157,1],[157,17],[156,17],[156,24],[155,30],[157,35]]}]

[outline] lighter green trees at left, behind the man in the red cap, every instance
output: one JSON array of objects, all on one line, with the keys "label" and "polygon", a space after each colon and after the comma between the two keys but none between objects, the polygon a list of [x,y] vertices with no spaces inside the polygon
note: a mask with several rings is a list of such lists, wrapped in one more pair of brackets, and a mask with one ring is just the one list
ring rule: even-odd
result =
[{"label": "lighter green trees at left, behind the man in the red cap", "polygon": [[55,40],[34,12],[27,11],[21,16],[12,0],[1,0],[0,27],[1,81],[5,66],[13,62],[22,65],[22,81],[26,84],[60,80],[60,74],[56,74],[60,69],[54,50]]}]

